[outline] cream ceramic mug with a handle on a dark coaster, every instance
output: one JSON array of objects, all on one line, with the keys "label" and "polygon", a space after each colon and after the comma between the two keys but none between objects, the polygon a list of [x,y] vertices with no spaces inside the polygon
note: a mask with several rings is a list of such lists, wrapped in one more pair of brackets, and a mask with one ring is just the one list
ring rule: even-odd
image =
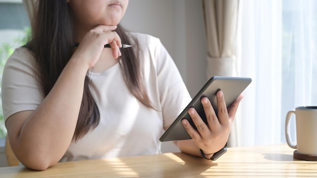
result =
[{"label": "cream ceramic mug with a handle on a dark coaster", "polygon": [[[293,143],[290,137],[290,118],[295,114],[296,139]],[[287,144],[304,155],[317,155],[317,106],[300,106],[286,115],[285,136]]]}]

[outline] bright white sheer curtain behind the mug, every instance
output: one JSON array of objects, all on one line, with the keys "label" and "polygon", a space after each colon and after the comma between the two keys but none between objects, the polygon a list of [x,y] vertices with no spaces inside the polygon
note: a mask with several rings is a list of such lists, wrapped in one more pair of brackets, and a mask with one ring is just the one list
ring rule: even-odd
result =
[{"label": "bright white sheer curtain behind the mug", "polygon": [[285,142],[287,111],[317,105],[316,3],[241,1],[238,74],[253,79],[241,104],[242,146]]}]

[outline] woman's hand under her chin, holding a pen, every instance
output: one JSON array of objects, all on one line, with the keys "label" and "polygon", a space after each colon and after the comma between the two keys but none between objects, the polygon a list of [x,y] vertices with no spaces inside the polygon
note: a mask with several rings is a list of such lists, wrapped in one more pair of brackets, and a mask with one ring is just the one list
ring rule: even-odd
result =
[{"label": "woman's hand under her chin, holding a pen", "polygon": [[112,31],[116,26],[98,25],[90,30],[77,47],[72,58],[83,59],[88,68],[93,67],[104,49],[105,44],[110,44],[112,56],[116,59],[121,56],[120,48],[122,47],[120,36]]}]

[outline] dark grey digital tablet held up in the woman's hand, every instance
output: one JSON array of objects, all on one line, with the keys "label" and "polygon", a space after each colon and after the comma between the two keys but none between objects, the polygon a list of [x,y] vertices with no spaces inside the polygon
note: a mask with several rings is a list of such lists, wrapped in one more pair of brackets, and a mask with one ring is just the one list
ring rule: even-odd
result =
[{"label": "dark grey digital tablet held up in the woman's hand", "polygon": [[252,79],[247,77],[226,77],[226,76],[213,76],[197,95],[191,100],[181,114],[175,119],[172,125],[163,133],[160,138],[161,142],[188,140],[191,137],[188,135],[181,120],[186,118],[193,128],[197,129],[194,125],[191,117],[188,114],[188,109],[193,107],[197,113],[201,116],[204,122],[207,124],[206,115],[204,112],[201,99],[207,97],[217,114],[217,98],[216,93],[221,90],[223,92],[225,103],[229,107],[237,97],[245,90],[245,88],[251,83]]}]

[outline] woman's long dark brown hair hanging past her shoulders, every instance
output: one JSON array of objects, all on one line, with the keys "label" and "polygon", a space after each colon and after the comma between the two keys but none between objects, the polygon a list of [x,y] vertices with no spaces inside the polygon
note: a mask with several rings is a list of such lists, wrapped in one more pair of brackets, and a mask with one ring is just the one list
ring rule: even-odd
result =
[{"label": "woman's long dark brown hair hanging past her shoulders", "polygon": [[[74,29],[71,9],[65,0],[37,1],[32,19],[32,38],[26,48],[34,53],[36,76],[44,97],[69,61],[73,53]],[[121,25],[115,30],[125,44],[133,48],[122,50],[120,66],[130,92],[145,106],[153,108],[142,79],[139,60],[139,45]],[[100,121],[100,113],[89,89],[90,79],[85,78],[84,94],[77,120],[73,140],[78,141],[91,129],[96,128]]]}]

